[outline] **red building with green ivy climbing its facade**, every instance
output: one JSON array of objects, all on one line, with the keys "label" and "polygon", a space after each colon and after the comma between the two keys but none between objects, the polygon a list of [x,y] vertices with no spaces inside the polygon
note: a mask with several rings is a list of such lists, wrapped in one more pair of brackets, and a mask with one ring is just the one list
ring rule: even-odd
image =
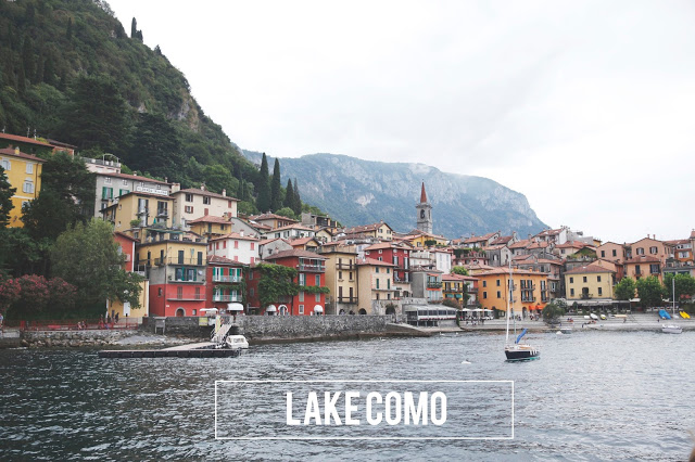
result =
[{"label": "red building with green ivy climbing its facade", "polygon": [[[293,297],[276,300],[267,307],[261,306],[258,298],[258,281],[261,271],[251,269],[248,279],[249,306],[251,313],[280,316],[323,315],[326,307],[326,294],[314,293],[313,287],[326,286],[326,258],[313,252],[292,249],[283,251],[266,257],[263,262],[295,268],[298,275],[293,282],[300,285],[300,292]],[[302,291],[301,287],[307,287]]]}]

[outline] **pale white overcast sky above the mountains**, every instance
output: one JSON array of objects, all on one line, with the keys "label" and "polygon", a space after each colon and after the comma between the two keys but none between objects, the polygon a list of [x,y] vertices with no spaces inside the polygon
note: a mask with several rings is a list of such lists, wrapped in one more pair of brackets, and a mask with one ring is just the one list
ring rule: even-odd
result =
[{"label": "pale white overcast sky above the mountains", "polygon": [[694,2],[110,4],[243,149],[488,177],[604,241],[695,227]]}]

